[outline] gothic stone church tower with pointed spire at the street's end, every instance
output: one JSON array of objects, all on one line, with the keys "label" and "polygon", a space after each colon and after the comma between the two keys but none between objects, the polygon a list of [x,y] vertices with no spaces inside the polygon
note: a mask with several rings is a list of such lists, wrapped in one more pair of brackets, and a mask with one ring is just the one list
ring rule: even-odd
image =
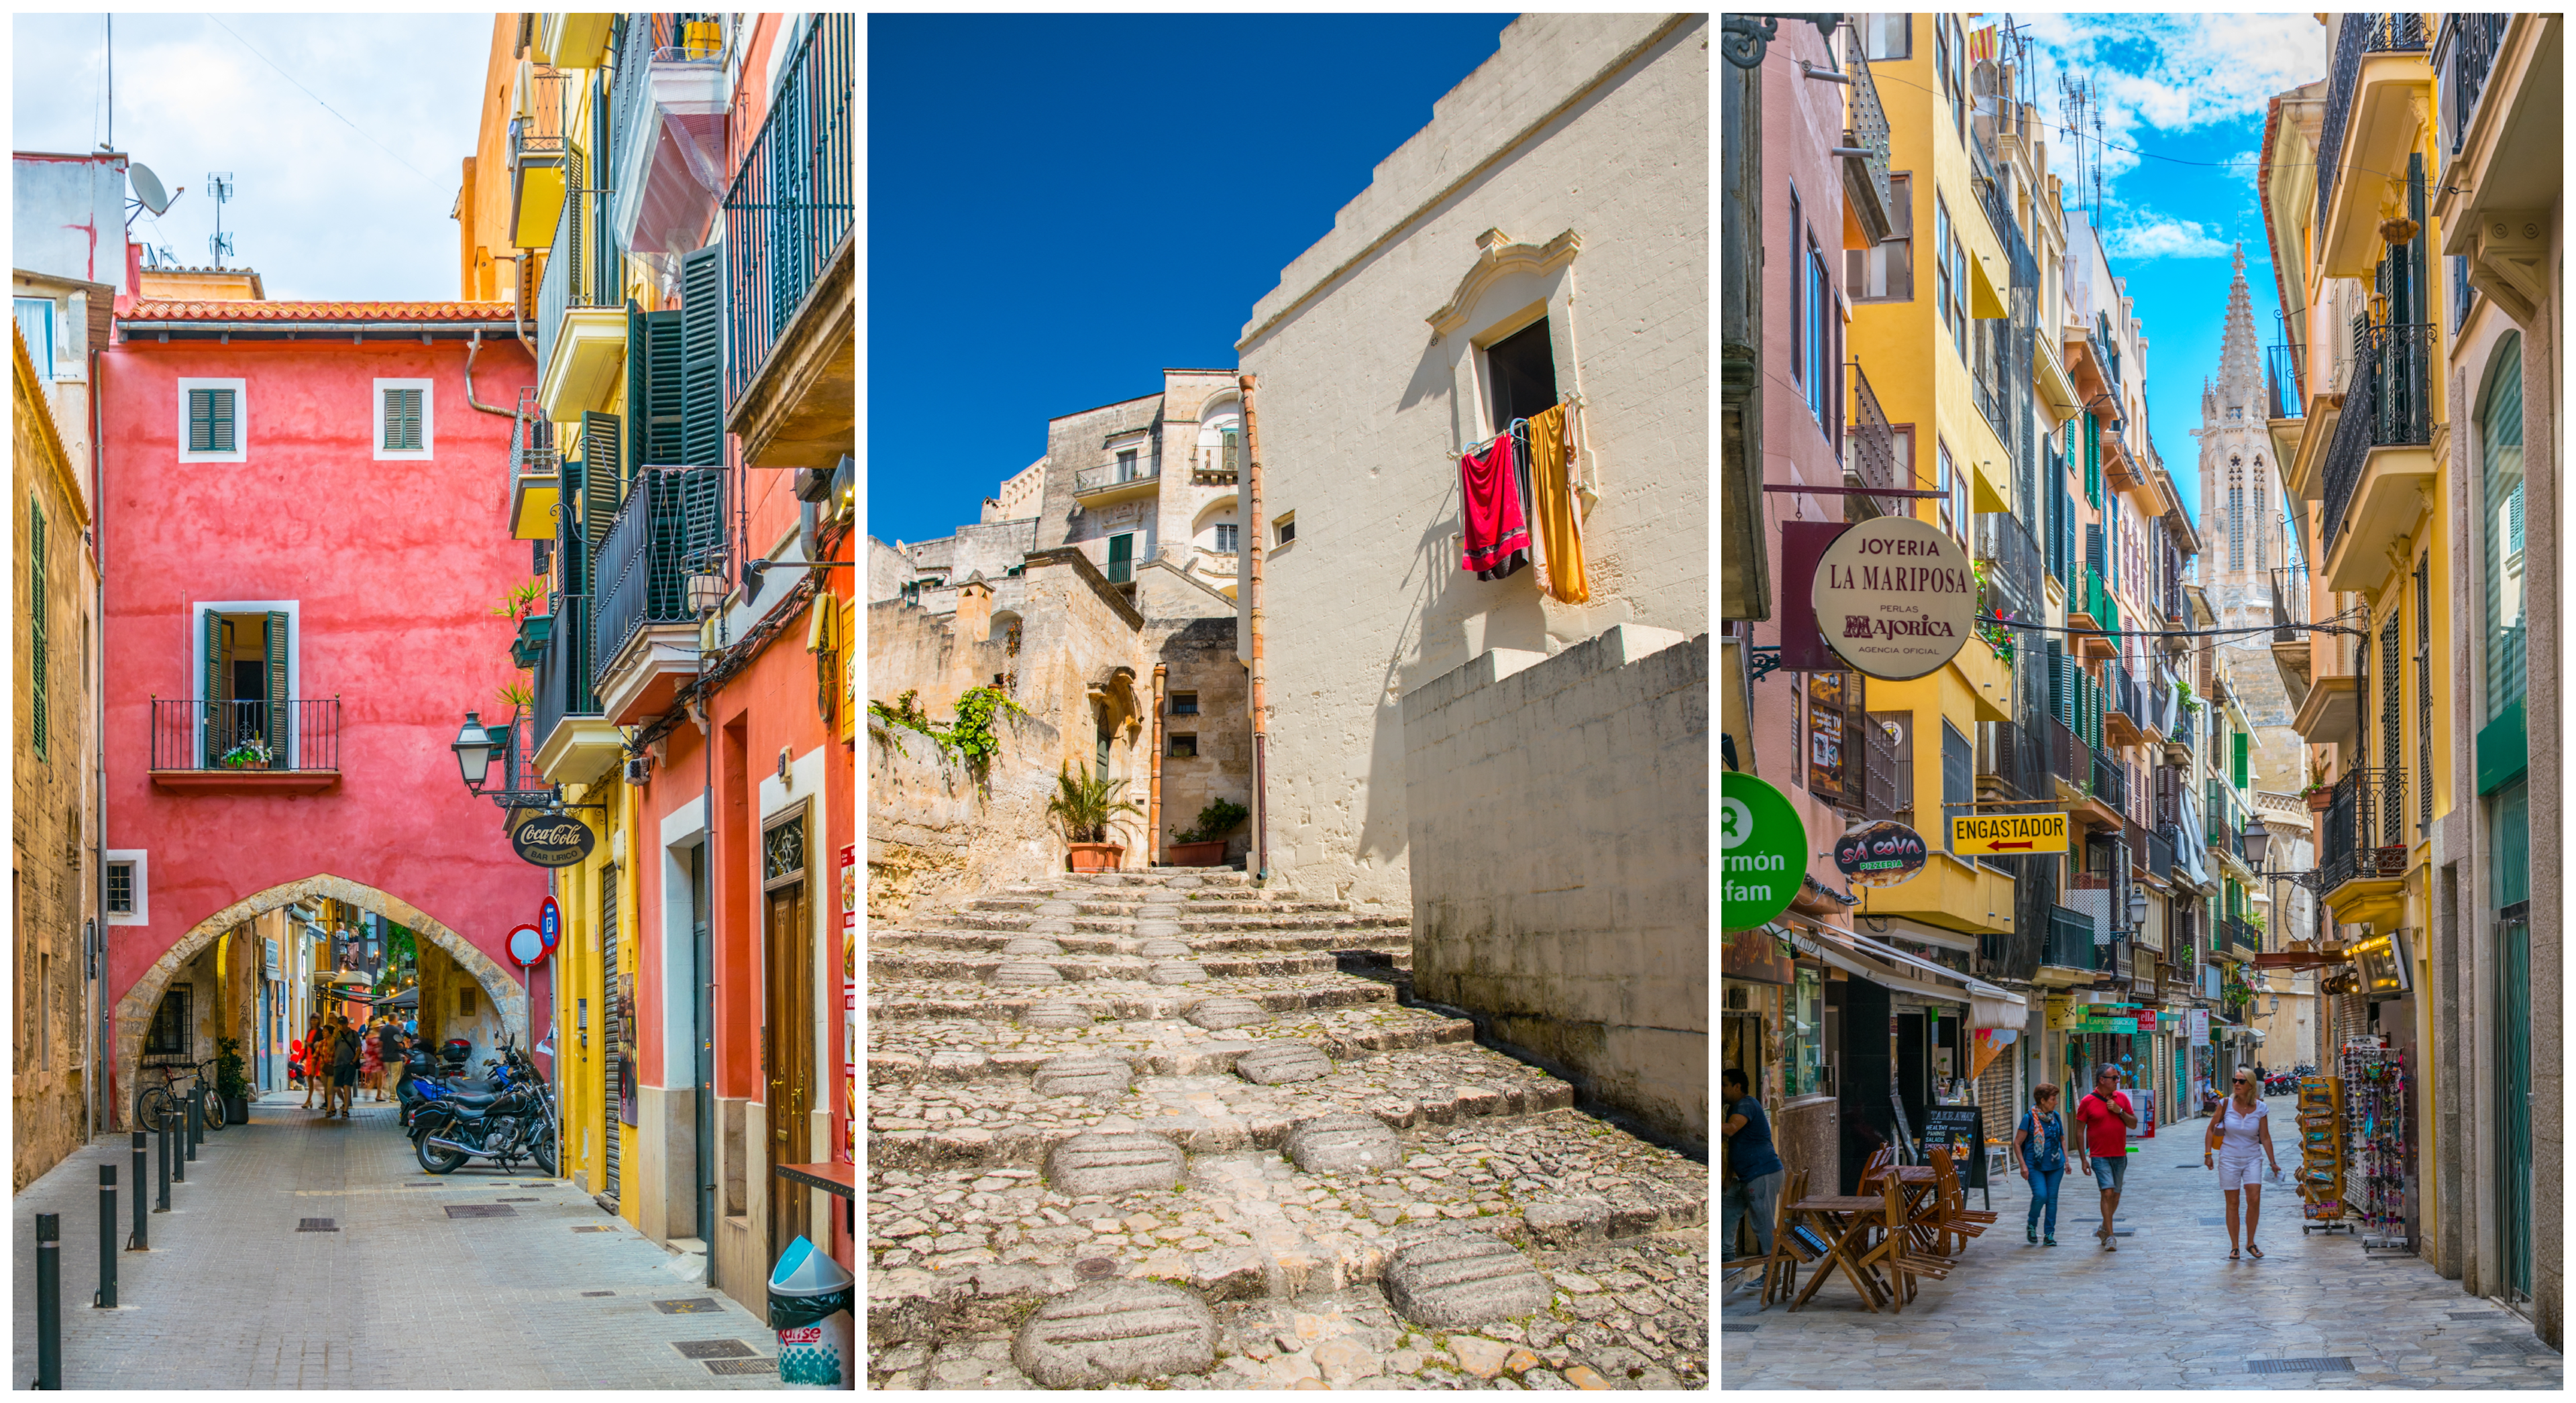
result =
[{"label": "gothic stone church tower with pointed spire at the street's end", "polygon": [[[2272,623],[2272,571],[2293,564],[2282,517],[2280,463],[2264,430],[2262,355],[2254,342],[2254,299],[2246,255],[2236,247],[2228,283],[2228,332],[2218,373],[2200,386],[2200,584],[2221,628]],[[2282,582],[2287,600],[2295,582]],[[2298,793],[2308,783],[2290,698],[2272,662],[2272,636],[2213,638],[2254,721],[2254,788]]]}]

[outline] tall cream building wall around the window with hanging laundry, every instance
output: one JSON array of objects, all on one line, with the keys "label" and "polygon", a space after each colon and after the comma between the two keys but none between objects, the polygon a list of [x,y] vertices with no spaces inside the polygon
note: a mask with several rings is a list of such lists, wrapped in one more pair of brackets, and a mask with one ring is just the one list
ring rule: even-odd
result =
[{"label": "tall cream building wall around the window with hanging laundry", "polygon": [[[1262,600],[1278,875],[1412,901],[1404,692],[1489,649],[1708,631],[1708,214],[1705,15],[1525,15],[1255,306],[1262,530],[1296,512]],[[1556,252],[1435,332],[1489,232]],[[1587,605],[1458,569],[1479,350],[1540,311],[1600,489]]]}]

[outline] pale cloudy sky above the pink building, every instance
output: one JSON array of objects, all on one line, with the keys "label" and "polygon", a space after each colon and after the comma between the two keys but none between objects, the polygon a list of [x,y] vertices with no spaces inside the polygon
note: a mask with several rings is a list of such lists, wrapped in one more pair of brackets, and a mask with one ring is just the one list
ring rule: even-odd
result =
[{"label": "pale cloudy sky above the pink building", "polygon": [[[118,13],[116,147],[185,185],[134,239],[206,263],[206,172],[229,170],[224,263],[258,268],[270,299],[453,299],[448,211],[489,44],[489,13]],[[10,147],[95,149],[106,77],[103,15],[15,15]]]}]

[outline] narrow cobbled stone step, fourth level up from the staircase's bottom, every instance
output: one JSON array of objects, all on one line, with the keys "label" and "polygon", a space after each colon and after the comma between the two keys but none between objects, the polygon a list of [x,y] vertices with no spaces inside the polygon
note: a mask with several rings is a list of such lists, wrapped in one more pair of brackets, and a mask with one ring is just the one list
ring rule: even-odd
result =
[{"label": "narrow cobbled stone step, fourth level up from the staircase's bottom", "polygon": [[[1030,1073],[1038,1063],[1069,1055],[1126,1058],[1146,1076],[1221,1076],[1234,1068],[1252,1040],[1311,1043],[1332,1061],[1368,1053],[1396,1053],[1443,1043],[1473,1043],[1476,1025],[1401,1004],[1363,1004],[1355,1009],[1296,1009],[1260,1017],[1231,1007],[1208,1014],[1213,1027],[1182,1019],[1136,1022],[981,1022],[981,1019],[904,1019],[868,1027],[868,1086],[907,1081],[976,1081],[997,1073]],[[1206,1004],[1203,1004],[1206,1007]]]}]

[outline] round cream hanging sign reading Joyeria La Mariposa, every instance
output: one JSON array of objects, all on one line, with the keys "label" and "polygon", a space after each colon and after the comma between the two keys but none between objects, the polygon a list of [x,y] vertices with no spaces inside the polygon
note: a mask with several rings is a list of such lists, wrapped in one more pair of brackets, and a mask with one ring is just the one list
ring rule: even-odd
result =
[{"label": "round cream hanging sign reading Joyeria La Mariposa", "polygon": [[1976,571],[1950,533],[1914,517],[1852,525],[1816,561],[1816,626],[1870,677],[1904,682],[1958,656],[1976,628]]}]

